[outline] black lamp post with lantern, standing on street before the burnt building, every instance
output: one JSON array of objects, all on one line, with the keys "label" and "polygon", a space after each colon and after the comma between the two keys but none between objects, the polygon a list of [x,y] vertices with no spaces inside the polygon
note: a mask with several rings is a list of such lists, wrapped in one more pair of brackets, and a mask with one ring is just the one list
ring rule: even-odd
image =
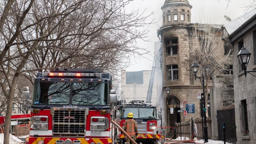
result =
[{"label": "black lamp post with lantern, standing on street before the burnt building", "polygon": [[[195,74],[195,79],[199,78],[197,77],[196,73],[198,72],[199,66],[196,63],[196,61],[192,64],[191,66],[192,71]],[[203,96],[204,98],[202,99],[203,101],[203,114],[204,114],[204,126],[203,126],[203,134],[204,134],[204,143],[208,142],[208,128],[207,128],[207,124],[206,124],[206,108],[205,108],[205,93],[204,93],[204,75],[202,74],[202,86],[203,86]]]}]

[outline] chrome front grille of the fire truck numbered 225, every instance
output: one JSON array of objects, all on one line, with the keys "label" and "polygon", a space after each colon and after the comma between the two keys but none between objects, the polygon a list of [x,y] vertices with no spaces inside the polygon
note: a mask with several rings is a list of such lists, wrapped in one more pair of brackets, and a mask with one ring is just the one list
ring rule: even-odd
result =
[{"label": "chrome front grille of the fire truck numbered 225", "polygon": [[52,108],[53,136],[84,137],[88,108]]}]

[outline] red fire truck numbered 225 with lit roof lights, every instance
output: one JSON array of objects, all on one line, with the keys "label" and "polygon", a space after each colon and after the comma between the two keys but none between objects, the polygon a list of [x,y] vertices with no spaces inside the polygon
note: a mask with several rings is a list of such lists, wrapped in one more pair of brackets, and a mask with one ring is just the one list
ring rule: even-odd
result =
[{"label": "red fire truck numbered 225 with lit roof lights", "polygon": [[99,69],[38,72],[26,144],[112,144],[111,80]]}]

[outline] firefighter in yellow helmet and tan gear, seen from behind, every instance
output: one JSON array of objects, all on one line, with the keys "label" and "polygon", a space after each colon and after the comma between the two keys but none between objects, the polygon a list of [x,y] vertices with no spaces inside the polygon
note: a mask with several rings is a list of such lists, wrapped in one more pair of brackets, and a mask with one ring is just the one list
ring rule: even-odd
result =
[{"label": "firefighter in yellow helmet and tan gear, seen from behind", "polygon": [[[136,121],[133,119],[133,113],[128,113],[125,123],[124,123],[124,131],[129,134],[134,140],[137,139],[138,128]],[[130,139],[125,136],[126,144],[130,144]]]}]

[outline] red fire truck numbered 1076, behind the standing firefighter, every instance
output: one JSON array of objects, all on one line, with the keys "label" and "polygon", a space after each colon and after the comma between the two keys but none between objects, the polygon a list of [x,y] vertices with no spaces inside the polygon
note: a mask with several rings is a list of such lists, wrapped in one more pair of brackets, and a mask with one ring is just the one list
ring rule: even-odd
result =
[{"label": "red fire truck numbered 1076, behind the standing firefighter", "polygon": [[[157,109],[152,104],[144,100],[133,100],[129,103],[121,100],[115,110],[115,122],[121,127],[124,126],[128,113],[133,113],[133,119],[138,126],[136,141],[154,144],[160,139],[160,134],[157,134]],[[124,144],[124,134],[117,127],[114,127],[114,130],[114,142]]]}]

